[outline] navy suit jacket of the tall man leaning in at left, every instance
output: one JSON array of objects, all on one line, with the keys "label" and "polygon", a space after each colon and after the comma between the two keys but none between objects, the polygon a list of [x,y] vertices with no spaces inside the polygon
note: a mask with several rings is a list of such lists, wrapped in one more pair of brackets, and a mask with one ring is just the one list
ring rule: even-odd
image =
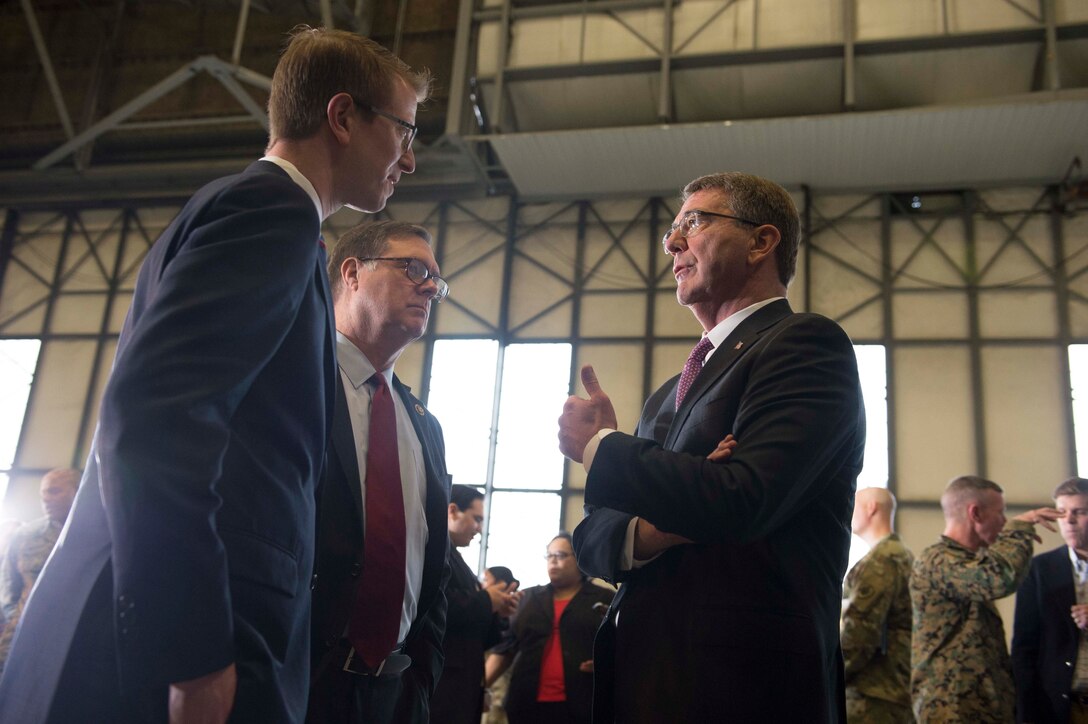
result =
[{"label": "navy suit jacket of the tall man leaning in at left", "polygon": [[61,720],[158,719],[168,683],[232,662],[235,720],[301,717],[336,375],[319,229],[306,192],[258,161],[151,247],[0,721],[51,702]]}]

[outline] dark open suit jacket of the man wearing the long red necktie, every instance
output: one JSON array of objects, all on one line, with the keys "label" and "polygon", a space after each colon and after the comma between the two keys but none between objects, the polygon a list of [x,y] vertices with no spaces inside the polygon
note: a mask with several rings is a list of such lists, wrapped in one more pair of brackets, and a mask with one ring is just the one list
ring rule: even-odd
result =
[{"label": "dark open suit jacket of the man wearing the long red necktie", "polygon": [[[428,540],[423,559],[423,581],[416,618],[405,639],[405,653],[412,664],[403,675],[398,716],[404,721],[426,721],[428,701],[442,673],[442,636],[446,628],[445,585],[449,577],[446,549],[446,508],[449,504],[449,475],[442,427],[422,403],[394,375],[393,389],[423,449],[426,470]],[[351,617],[356,580],[362,570],[362,491],[359,458],[351,434],[347,397],[339,376],[329,447],[329,465],[322,481],[318,512],[318,557],[313,580],[313,626],[310,662],[313,682],[325,666],[343,666],[338,646]],[[410,719],[409,719],[410,717]]]}]

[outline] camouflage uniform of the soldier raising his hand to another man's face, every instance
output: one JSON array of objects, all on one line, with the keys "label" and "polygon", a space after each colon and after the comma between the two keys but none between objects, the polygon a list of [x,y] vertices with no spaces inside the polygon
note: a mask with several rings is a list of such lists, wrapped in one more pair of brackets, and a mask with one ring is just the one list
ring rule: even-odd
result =
[{"label": "camouflage uniform of the soldier raising his hand to another man's face", "polygon": [[1010,520],[974,553],[941,537],[911,573],[914,714],[927,722],[1012,722],[1016,692],[996,599],[1015,593],[1031,562],[1034,526]]}]

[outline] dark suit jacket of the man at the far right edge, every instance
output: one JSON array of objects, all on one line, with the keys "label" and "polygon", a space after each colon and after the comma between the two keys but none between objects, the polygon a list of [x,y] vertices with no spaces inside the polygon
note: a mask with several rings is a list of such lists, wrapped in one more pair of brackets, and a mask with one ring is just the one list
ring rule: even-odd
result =
[{"label": "dark suit jacket of the man at the far right edge", "polygon": [[1070,609],[1076,602],[1068,548],[1062,545],[1031,560],[1027,578],[1016,591],[1013,618],[1017,722],[1065,724],[1070,719],[1080,633]]}]

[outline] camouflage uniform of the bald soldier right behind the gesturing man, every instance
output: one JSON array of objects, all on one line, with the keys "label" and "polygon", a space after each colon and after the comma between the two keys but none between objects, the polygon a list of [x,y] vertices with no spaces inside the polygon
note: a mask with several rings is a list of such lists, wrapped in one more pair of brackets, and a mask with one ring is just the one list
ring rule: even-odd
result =
[{"label": "camouflage uniform of the bald soldier right behind the gesturing man", "polygon": [[843,585],[840,626],[846,719],[913,722],[911,713],[911,564],[899,536],[882,538]]}]

